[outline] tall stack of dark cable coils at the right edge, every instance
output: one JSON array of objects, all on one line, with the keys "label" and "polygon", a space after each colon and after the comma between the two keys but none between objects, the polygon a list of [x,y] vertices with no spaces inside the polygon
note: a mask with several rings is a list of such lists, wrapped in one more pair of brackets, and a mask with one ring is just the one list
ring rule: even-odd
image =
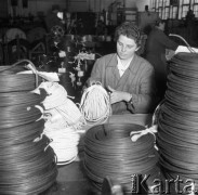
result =
[{"label": "tall stack of dark cable coils at the right edge", "polygon": [[172,58],[158,127],[159,161],[166,177],[180,177],[180,190],[185,187],[186,180],[197,183],[198,54],[179,53]]}]

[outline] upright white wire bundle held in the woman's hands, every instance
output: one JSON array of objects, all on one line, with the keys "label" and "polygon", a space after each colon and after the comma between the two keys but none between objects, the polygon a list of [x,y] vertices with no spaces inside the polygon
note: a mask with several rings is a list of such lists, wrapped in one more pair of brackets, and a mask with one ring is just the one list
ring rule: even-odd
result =
[{"label": "upright white wire bundle held in the woman's hands", "polygon": [[83,91],[80,110],[89,122],[105,121],[111,115],[110,98],[100,82]]}]

